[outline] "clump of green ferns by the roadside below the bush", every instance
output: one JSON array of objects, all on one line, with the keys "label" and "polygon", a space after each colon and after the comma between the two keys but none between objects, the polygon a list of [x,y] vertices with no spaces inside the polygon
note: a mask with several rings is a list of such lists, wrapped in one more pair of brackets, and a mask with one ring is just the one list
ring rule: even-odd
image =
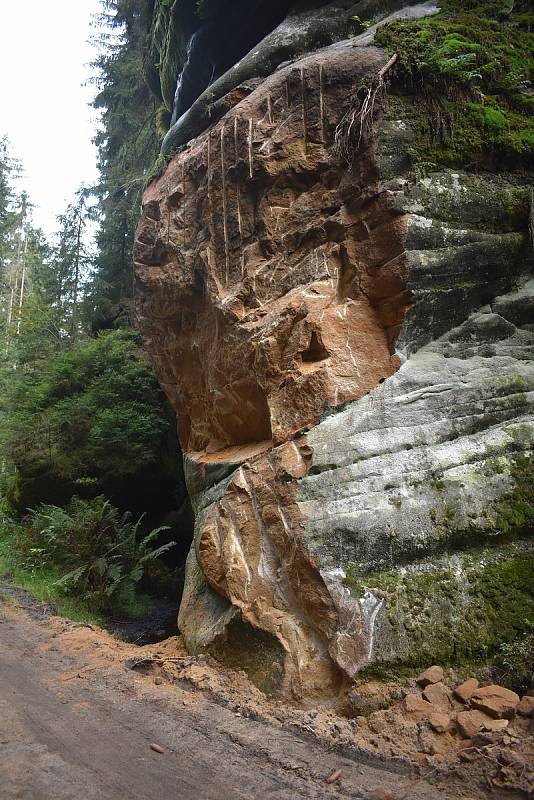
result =
[{"label": "clump of green ferns by the roadside below the bush", "polygon": [[54,581],[59,592],[109,612],[132,605],[147,566],[174,546],[154,548],[167,528],[141,536],[142,519],[134,522],[102,495],[91,501],[73,497],[66,508],[39,506],[24,524],[4,520],[4,538],[24,572],[44,567],[50,576],[59,571]]}]

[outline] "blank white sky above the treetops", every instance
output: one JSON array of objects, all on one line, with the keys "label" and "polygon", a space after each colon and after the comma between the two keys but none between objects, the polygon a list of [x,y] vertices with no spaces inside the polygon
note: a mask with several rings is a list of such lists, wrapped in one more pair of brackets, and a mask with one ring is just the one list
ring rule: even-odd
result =
[{"label": "blank white sky above the treetops", "polygon": [[99,9],[99,0],[0,0],[0,136],[22,162],[17,187],[47,234],[76,189],[97,176],[88,78]]}]

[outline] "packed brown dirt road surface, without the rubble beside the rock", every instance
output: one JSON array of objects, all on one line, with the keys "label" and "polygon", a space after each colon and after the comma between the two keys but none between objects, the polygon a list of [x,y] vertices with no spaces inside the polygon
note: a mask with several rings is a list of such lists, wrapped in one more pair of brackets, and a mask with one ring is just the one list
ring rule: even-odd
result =
[{"label": "packed brown dirt road surface, without the rubble beside the rock", "polygon": [[0,617],[2,800],[363,798],[399,782],[407,796],[443,797],[420,781],[413,794],[408,776],[236,716],[185,685],[155,686],[91,629],[13,606]]}]

